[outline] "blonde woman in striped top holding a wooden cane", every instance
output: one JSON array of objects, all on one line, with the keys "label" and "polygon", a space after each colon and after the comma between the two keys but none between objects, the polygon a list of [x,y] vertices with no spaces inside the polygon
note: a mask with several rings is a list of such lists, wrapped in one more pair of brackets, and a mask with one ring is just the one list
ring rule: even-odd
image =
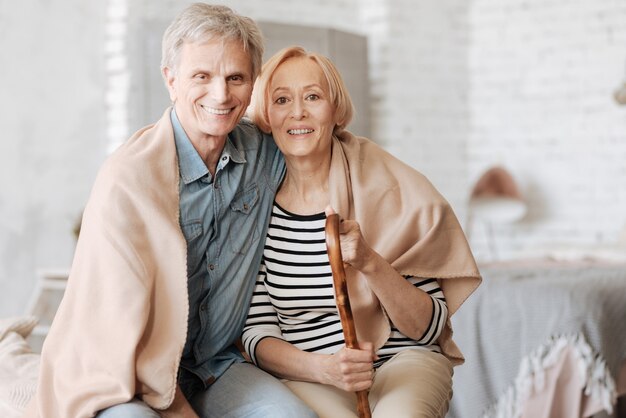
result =
[{"label": "blonde woman in striped top holding a wooden cane", "polygon": [[[253,362],[320,417],[443,417],[463,357],[450,316],[480,283],[456,217],[421,174],[345,130],[352,103],[325,57],[280,51],[254,87],[253,121],[287,173],[243,334]],[[361,349],[344,345],[325,249],[336,210]]]}]

